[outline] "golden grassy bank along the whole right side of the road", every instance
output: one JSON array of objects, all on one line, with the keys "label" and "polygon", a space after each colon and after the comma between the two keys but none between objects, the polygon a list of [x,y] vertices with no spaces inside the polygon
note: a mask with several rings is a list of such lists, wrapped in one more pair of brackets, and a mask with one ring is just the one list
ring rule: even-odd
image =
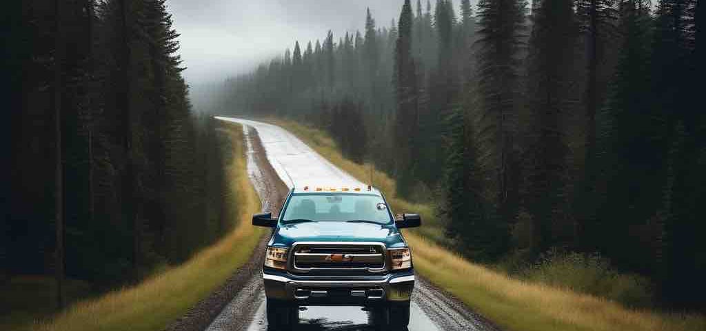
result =
[{"label": "golden grassy bank along the whole right side of the road", "polygon": [[[370,165],[346,160],[325,132],[292,121],[271,122],[294,133],[337,167],[369,182]],[[423,227],[405,233],[414,248],[417,272],[503,330],[706,330],[703,316],[664,315],[628,309],[606,299],[525,282],[474,264],[438,246],[438,242],[444,242],[443,224],[433,215],[433,206],[412,204],[397,198],[395,182],[380,171],[373,171],[373,183],[388,194],[395,212],[420,212],[424,217]]]}]

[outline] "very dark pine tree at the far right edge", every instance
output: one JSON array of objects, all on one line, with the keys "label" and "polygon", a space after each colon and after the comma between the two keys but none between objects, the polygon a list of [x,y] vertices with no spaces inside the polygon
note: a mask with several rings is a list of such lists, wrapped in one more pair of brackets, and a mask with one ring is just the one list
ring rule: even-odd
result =
[{"label": "very dark pine tree at the far right edge", "polygon": [[[664,222],[663,296],[679,308],[700,307],[706,294],[702,284],[690,282],[706,272],[706,245],[700,234],[706,194],[706,113],[702,110],[703,1],[663,0],[657,11],[653,95],[671,119],[672,185]],[[657,90],[659,89],[659,90]],[[697,253],[695,253],[697,252]]]}]

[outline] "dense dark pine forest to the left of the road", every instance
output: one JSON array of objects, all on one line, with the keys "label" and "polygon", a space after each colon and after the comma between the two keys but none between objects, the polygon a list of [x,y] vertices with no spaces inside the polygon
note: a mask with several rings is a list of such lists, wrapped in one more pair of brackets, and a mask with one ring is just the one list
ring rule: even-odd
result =
[{"label": "dense dark pine forest to the left of the road", "polygon": [[191,109],[166,1],[11,2],[2,280],[112,289],[227,232],[227,140]]}]

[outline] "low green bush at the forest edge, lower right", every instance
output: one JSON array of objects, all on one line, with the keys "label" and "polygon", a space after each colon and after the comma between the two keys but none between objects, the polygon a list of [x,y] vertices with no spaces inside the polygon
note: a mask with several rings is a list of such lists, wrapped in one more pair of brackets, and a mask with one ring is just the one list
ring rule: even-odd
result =
[{"label": "low green bush at the forest edge, lower right", "polygon": [[551,250],[520,272],[530,282],[542,282],[585,294],[600,296],[633,308],[652,306],[650,281],[634,274],[611,270],[609,260],[599,254]]}]

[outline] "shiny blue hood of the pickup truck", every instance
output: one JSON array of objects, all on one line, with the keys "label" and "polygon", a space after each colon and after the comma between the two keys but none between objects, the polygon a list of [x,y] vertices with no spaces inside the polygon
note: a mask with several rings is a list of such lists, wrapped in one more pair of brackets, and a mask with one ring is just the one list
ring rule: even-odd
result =
[{"label": "shiny blue hood of the pickup truck", "polygon": [[270,246],[289,247],[301,241],[354,241],[385,243],[388,248],[405,247],[405,239],[394,224],[316,222],[280,224]]}]

